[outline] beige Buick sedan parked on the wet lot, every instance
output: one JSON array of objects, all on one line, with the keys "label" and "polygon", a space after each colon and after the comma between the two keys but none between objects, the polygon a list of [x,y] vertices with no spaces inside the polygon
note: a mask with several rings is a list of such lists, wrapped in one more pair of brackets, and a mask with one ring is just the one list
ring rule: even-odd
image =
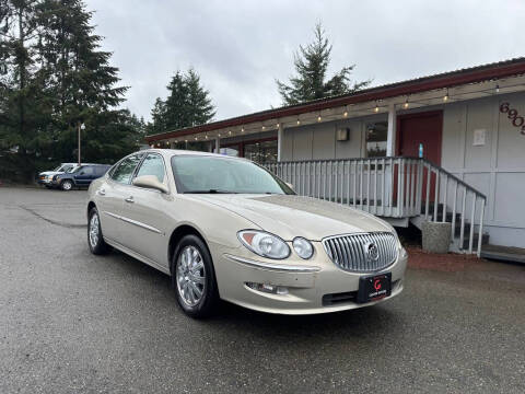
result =
[{"label": "beige Buick sedan parked on the wet lot", "polygon": [[401,292],[407,265],[372,215],[296,196],[245,159],[176,150],[130,154],[91,184],[88,243],[170,275],[194,317],[221,299],[283,314],[373,305]]}]

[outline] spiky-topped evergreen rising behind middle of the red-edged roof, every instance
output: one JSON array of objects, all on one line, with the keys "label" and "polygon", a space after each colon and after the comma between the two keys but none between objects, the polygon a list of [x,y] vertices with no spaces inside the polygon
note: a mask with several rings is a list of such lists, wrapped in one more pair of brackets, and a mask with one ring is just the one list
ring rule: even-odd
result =
[{"label": "spiky-topped evergreen rising behind middle of the red-edged roof", "polygon": [[325,31],[320,24],[315,26],[314,33],[314,42],[306,47],[300,46],[299,53],[294,56],[298,74],[290,78],[290,84],[277,80],[279,94],[284,105],[355,92],[371,83],[370,80],[351,83],[350,74],[355,65],[343,67],[334,77],[326,80],[331,45],[325,37]]}]

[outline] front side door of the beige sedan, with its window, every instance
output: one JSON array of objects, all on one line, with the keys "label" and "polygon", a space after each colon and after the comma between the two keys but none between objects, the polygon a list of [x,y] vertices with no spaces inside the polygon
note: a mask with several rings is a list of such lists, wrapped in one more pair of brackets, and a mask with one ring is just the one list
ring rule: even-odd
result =
[{"label": "front side door of the beige sedan, with its window", "polygon": [[[154,175],[168,186],[166,164],[159,153],[148,153],[133,177],[142,175]],[[133,223],[126,229],[129,247],[165,269],[168,269],[166,236],[170,236],[165,212],[170,204],[173,204],[170,194],[131,185],[122,211]]]}]

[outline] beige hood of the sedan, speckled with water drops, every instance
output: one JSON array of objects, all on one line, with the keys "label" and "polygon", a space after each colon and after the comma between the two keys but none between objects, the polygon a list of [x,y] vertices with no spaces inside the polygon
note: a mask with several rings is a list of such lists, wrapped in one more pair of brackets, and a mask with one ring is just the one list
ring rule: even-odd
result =
[{"label": "beige hood of the sedan, speckled with water drops", "polygon": [[325,236],[393,231],[385,221],[350,207],[312,197],[292,195],[191,195],[241,215],[265,231],[291,241],[304,236],[320,241]]}]

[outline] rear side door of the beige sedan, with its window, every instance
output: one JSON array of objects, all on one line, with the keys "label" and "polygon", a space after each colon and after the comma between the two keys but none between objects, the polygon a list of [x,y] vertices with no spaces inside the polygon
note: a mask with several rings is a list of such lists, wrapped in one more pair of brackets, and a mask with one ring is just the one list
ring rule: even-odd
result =
[{"label": "rear side door of the beige sedan, with its window", "polygon": [[125,246],[127,246],[125,232],[129,223],[122,216],[124,204],[129,195],[129,183],[142,155],[143,153],[135,153],[121,160],[96,190],[104,236]]}]

